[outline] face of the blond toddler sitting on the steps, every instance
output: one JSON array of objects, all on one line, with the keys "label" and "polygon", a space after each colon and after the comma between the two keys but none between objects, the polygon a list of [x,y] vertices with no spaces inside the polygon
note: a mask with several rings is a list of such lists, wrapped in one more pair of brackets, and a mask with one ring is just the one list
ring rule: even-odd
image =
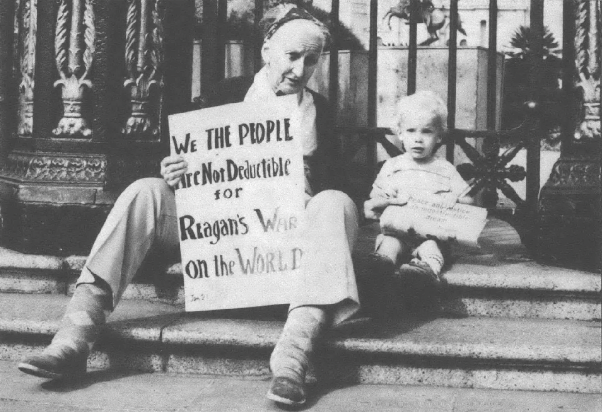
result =
[{"label": "face of the blond toddler sitting on the steps", "polygon": [[399,139],[406,152],[416,161],[429,160],[441,142],[441,124],[432,113],[406,115],[400,121]]}]

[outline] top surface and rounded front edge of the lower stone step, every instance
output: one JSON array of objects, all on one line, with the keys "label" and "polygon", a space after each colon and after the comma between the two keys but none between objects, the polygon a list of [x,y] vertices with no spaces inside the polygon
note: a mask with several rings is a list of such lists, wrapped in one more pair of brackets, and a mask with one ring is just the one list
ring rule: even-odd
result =
[{"label": "top surface and rounded front edge of the lower stone step", "polygon": [[[0,332],[37,336],[37,339],[52,336],[58,329],[66,299],[46,296],[45,302],[39,304],[34,313],[16,315],[14,306],[24,296],[11,296],[8,300],[2,296]],[[8,306],[12,306],[13,310]],[[191,316],[190,313],[179,312],[179,308],[144,301],[123,302],[114,315],[107,325],[105,334],[108,337],[189,348],[239,346],[271,349],[283,325],[282,321],[275,320]],[[538,343],[536,333],[547,336],[548,342]],[[515,337],[520,335],[523,342],[513,343],[508,339],[512,334]],[[567,334],[573,336],[567,337]],[[483,336],[488,336],[488,339],[483,340]],[[504,318],[381,322],[356,319],[335,328],[326,344],[329,348],[356,354],[467,358],[499,363],[593,366],[598,369],[602,367],[601,345],[599,322]]]}]

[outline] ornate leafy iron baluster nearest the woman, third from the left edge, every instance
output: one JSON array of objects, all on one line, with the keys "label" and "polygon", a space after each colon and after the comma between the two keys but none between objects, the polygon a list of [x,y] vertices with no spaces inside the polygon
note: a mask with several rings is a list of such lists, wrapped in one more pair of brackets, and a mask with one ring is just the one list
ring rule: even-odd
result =
[{"label": "ornate leafy iron baluster nearest the woman, third from the left edge", "polygon": [[160,0],[129,0],[125,33],[125,64],[132,113],[124,136],[152,139],[159,134],[163,89],[163,8]]}]

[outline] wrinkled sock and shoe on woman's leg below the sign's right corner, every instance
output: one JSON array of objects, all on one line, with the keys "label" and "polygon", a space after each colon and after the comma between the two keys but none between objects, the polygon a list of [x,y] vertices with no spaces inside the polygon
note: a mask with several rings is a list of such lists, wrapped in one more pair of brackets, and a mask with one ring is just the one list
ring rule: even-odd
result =
[{"label": "wrinkled sock and shoe on woman's leg below the sign's right corner", "polygon": [[305,404],[305,373],[324,325],[326,313],[319,307],[301,306],[290,311],[270,358],[274,377],[268,399],[293,407]]}]

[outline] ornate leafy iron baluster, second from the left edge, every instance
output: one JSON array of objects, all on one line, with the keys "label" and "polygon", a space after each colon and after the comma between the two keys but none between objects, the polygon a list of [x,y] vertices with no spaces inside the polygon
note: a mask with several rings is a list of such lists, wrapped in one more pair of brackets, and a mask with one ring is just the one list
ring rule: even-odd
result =
[{"label": "ornate leafy iron baluster, second from the left edge", "polygon": [[52,133],[63,137],[88,137],[92,130],[84,117],[85,90],[92,89],[95,25],[92,0],[60,0],[54,51],[62,86],[63,118]]}]

